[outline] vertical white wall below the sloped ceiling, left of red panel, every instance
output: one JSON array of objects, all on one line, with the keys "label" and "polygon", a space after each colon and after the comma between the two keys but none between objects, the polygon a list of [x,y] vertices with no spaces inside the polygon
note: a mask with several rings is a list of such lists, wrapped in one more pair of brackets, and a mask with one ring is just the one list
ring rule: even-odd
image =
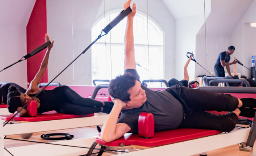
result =
[{"label": "vertical white wall below the sloped ceiling, left of red panel", "polygon": [[[27,53],[26,27],[0,26],[0,69],[17,62]],[[0,82],[17,83],[27,88],[27,62],[22,61],[0,72]]]}]

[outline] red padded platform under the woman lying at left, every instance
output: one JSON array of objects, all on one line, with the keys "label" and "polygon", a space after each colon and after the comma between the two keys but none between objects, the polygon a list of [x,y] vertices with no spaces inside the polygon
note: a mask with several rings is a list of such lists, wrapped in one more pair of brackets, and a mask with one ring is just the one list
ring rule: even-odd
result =
[{"label": "red padded platform under the woman lying at left", "polygon": [[[8,121],[14,114],[2,116],[2,120]],[[38,114],[36,117],[14,117],[12,120],[15,121],[26,121],[26,122],[40,122],[40,121],[48,121],[48,120],[58,120],[58,119],[70,119],[77,117],[91,117],[94,114],[89,115],[71,115],[71,114],[63,114],[55,111],[44,112],[43,114]]]}]

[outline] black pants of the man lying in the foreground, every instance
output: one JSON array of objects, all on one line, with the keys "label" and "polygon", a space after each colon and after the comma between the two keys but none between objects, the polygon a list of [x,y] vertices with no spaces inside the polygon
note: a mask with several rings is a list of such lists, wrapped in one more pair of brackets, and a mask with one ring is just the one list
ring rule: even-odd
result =
[{"label": "black pants of the man lying in the foreground", "polygon": [[[218,94],[200,89],[175,86],[166,89],[178,99],[185,110],[185,119],[180,128],[214,129],[230,132],[235,128],[237,115],[233,113],[238,99],[230,94]],[[206,110],[228,111],[226,115],[215,115]]]}]

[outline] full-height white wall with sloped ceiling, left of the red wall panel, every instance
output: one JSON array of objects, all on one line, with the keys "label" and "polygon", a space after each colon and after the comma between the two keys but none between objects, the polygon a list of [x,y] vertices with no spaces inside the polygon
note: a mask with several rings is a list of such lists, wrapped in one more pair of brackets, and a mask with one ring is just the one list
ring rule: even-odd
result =
[{"label": "full-height white wall with sloped ceiling, left of the red wall panel", "polygon": [[[0,0],[0,70],[26,55],[26,25],[35,2]],[[0,82],[17,83],[27,88],[26,61],[0,72]]]}]

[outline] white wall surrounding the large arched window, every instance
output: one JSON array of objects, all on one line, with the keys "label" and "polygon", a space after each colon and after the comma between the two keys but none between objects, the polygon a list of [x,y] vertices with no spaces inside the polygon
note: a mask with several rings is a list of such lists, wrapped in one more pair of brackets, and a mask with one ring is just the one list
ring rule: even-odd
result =
[{"label": "white wall surrounding the large arched window", "polygon": [[[91,28],[93,23],[104,15],[104,9],[105,12],[122,10],[125,1],[105,0],[104,4],[103,0],[47,0],[47,33],[51,39],[55,39],[48,65],[49,81],[64,69],[73,57],[80,54],[91,43],[91,39],[96,39],[91,37]],[[146,0],[133,0],[137,10],[144,14],[147,14],[146,2]],[[172,78],[175,76],[174,19],[161,1],[148,0],[148,14],[164,30],[166,51],[164,77]],[[91,85],[91,50],[83,54],[55,81],[64,85]]]}]

